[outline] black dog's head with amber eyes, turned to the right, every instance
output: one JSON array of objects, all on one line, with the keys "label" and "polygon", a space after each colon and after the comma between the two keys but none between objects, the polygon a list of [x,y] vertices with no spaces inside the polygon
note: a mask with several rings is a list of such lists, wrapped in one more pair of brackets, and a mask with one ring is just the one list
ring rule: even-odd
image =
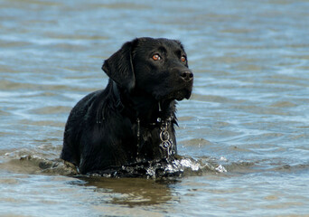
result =
[{"label": "black dog's head with amber eyes, turned to the right", "polygon": [[102,66],[122,89],[151,94],[156,100],[189,99],[193,73],[179,41],[137,38],[126,42]]}]

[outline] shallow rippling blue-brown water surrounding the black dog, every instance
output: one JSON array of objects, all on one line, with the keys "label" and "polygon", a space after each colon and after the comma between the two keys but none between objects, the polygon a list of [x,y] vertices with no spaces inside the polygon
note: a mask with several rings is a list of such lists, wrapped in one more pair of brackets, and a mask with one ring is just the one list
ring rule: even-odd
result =
[{"label": "shallow rippling blue-brown water surrounding the black dog", "polygon": [[[308,11],[305,0],[0,1],[0,215],[309,216]],[[74,176],[56,160],[70,109],[139,36],[188,53],[194,90],[176,129],[187,169]]]}]

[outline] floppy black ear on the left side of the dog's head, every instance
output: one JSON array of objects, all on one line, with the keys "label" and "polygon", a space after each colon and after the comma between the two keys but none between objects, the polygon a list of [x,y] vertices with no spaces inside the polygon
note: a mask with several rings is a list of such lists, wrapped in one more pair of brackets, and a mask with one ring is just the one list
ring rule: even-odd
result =
[{"label": "floppy black ear on the left side of the dog's head", "polygon": [[[136,41],[136,40],[135,40]],[[104,61],[102,70],[120,87],[132,90],[136,85],[136,76],[132,63],[133,42],[126,42],[119,51]]]}]

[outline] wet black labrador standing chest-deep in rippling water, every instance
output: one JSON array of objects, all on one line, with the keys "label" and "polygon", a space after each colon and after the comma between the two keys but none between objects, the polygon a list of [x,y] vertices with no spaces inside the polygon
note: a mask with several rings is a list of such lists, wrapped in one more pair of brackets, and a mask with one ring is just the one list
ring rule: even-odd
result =
[{"label": "wet black labrador standing chest-deep in rippling water", "polygon": [[174,156],[175,100],[189,99],[193,84],[182,43],[137,38],[102,70],[108,86],[70,111],[61,159],[87,174]]}]

